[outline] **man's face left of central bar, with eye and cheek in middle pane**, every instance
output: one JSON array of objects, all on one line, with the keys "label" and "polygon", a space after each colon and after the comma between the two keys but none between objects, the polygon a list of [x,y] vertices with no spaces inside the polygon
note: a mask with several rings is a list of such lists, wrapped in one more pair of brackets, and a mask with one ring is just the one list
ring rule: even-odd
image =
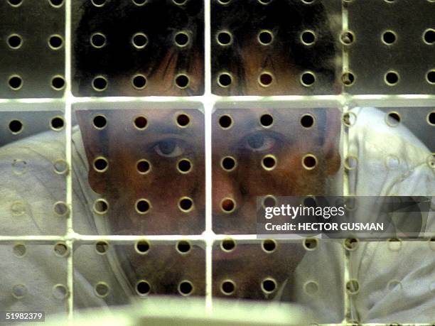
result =
[{"label": "man's face left of central bar, with eye and cheek in middle pane", "polygon": [[[93,126],[96,116],[107,120],[104,129]],[[203,232],[204,118],[200,111],[82,110],[77,111],[77,119],[90,166],[90,187],[109,203],[111,234]],[[108,162],[104,172],[94,167],[100,157]]]}]

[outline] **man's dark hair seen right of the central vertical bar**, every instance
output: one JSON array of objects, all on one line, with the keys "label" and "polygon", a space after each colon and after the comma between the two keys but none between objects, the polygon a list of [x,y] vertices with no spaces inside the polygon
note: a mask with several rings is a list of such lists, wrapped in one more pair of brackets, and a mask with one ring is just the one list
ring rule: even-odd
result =
[{"label": "man's dark hair seen right of the central vertical bar", "polygon": [[[332,86],[336,70],[335,40],[321,1],[263,0],[267,4],[259,0],[223,2],[213,0],[212,6],[213,76],[227,69],[237,77],[243,92],[246,75],[240,50],[249,43],[257,42],[257,33],[264,29],[274,34],[274,43],[262,52],[267,56],[265,63],[273,65],[276,57],[289,58],[300,70],[312,70],[321,76],[323,83]],[[340,4],[332,10],[339,14]],[[234,46],[220,46],[215,42],[216,33],[222,30],[232,33]],[[306,46],[301,42],[300,35],[305,30],[316,33],[314,45]],[[248,56],[256,54],[256,50],[252,50]]]}]

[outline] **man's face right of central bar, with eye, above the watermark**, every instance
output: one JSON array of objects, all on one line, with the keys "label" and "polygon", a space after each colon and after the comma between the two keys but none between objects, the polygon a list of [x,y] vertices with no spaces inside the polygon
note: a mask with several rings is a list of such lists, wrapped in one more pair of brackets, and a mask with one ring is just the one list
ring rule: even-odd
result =
[{"label": "man's face right of central bar, with eye, above the watermark", "polygon": [[[222,127],[225,123],[230,126]],[[259,196],[325,195],[340,167],[339,138],[338,109],[218,109],[213,114],[215,233],[255,234]],[[222,161],[228,158],[234,167]]]}]

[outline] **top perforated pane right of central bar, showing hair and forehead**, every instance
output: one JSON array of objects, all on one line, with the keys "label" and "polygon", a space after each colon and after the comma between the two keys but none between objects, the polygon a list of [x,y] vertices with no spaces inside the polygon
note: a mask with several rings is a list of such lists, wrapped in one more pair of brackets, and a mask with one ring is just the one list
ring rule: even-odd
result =
[{"label": "top perforated pane right of central bar, showing hair and forehead", "polygon": [[340,92],[340,1],[213,0],[211,17],[213,94]]}]

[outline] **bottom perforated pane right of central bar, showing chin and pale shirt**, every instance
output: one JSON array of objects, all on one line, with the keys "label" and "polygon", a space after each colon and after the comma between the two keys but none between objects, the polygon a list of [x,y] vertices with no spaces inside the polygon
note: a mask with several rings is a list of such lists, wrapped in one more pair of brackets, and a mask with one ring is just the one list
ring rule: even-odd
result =
[{"label": "bottom perforated pane right of central bar, showing chin and pale shirt", "polygon": [[[213,295],[293,302],[313,310],[311,322],[340,322],[344,318],[343,246],[340,241],[306,243],[230,238],[215,241]],[[327,313],[318,315],[319,311]]]}]

